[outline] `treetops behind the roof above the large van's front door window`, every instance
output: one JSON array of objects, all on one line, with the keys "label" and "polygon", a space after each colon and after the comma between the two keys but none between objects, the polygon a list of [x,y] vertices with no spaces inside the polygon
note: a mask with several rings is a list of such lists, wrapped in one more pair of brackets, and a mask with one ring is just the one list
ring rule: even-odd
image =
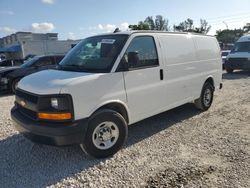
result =
[{"label": "treetops behind the roof above the large van's front door window", "polygon": [[144,21],[140,21],[137,25],[129,25],[131,30],[158,30],[168,31],[168,20],[163,16],[157,15],[154,19],[152,16],[148,16]]}]

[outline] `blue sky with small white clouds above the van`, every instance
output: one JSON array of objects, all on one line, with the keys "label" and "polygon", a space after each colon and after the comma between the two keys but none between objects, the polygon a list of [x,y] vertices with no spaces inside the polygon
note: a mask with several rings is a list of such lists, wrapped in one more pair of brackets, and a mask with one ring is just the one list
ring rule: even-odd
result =
[{"label": "blue sky with small white clouds above the van", "polygon": [[127,30],[147,16],[162,15],[169,26],[206,19],[216,30],[250,22],[250,0],[0,0],[0,37],[17,31],[56,32],[61,40]]}]

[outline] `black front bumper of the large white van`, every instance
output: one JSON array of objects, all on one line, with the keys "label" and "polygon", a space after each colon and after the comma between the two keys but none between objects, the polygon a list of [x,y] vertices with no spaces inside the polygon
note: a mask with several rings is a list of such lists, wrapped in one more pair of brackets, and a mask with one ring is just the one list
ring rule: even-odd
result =
[{"label": "black front bumper of the large white van", "polygon": [[47,145],[81,144],[88,128],[88,119],[67,123],[38,122],[23,115],[16,107],[11,110],[11,118],[15,122],[16,129],[25,137],[33,142]]}]

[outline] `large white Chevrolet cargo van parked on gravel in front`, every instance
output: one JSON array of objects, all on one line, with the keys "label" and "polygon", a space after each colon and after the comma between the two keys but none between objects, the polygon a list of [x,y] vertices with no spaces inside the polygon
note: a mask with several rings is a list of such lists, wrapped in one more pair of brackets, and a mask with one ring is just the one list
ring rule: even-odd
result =
[{"label": "large white Chevrolet cargo van parked on gravel in front", "polygon": [[128,125],[193,102],[208,110],[222,81],[215,37],[129,31],[82,40],[60,62],[23,78],[11,111],[34,142],[80,144],[107,157],[124,144]]}]

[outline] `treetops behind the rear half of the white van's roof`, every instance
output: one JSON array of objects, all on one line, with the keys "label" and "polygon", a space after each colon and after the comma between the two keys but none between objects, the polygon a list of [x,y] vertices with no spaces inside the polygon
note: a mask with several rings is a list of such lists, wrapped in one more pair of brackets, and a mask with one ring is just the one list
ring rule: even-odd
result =
[{"label": "treetops behind the rear half of the white van's roof", "polygon": [[211,26],[208,25],[206,20],[200,19],[200,26],[195,27],[194,21],[190,18],[181,22],[179,25],[174,26],[174,30],[181,31],[181,32],[194,32],[194,33],[203,33],[207,34],[211,29]]}]

